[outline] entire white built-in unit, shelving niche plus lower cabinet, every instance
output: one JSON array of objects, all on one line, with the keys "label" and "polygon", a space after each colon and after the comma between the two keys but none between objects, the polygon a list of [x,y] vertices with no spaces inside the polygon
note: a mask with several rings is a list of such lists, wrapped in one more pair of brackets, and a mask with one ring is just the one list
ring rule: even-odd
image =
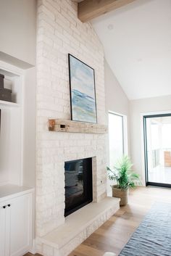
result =
[{"label": "entire white built-in unit, shelving niche plus lower cabinet", "polygon": [[21,256],[32,247],[33,189],[23,183],[25,70],[0,61],[12,102],[0,101],[0,256]]}]

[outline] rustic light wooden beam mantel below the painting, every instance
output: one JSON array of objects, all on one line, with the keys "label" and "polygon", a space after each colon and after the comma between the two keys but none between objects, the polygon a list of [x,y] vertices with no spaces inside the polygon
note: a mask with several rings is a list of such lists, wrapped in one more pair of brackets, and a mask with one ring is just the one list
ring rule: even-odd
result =
[{"label": "rustic light wooden beam mantel below the painting", "polygon": [[49,119],[49,131],[67,133],[107,133],[107,125],[97,123],[83,123],[72,120]]}]

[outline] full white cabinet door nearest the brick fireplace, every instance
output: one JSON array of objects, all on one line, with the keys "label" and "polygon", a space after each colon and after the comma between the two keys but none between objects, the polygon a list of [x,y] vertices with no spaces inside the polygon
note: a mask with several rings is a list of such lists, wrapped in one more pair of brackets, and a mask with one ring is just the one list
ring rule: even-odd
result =
[{"label": "full white cabinet door nearest the brick fireplace", "polygon": [[9,256],[19,256],[32,244],[33,194],[12,199],[10,205]]}]

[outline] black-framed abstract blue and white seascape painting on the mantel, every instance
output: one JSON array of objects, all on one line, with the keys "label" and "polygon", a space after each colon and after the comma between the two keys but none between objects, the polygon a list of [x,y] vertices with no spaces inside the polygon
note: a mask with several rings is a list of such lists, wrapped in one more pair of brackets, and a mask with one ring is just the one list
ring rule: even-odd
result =
[{"label": "black-framed abstract blue and white seascape painting on the mantel", "polygon": [[94,70],[71,54],[68,56],[72,120],[96,123]]}]

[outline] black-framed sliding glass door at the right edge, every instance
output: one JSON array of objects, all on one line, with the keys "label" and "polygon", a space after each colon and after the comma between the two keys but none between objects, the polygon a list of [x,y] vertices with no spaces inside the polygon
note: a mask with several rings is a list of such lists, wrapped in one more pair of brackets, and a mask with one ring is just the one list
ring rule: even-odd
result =
[{"label": "black-framed sliding glass door at the right edge", "polygon": [[143,117],[146,185],[171,187],[171,114]]}]

